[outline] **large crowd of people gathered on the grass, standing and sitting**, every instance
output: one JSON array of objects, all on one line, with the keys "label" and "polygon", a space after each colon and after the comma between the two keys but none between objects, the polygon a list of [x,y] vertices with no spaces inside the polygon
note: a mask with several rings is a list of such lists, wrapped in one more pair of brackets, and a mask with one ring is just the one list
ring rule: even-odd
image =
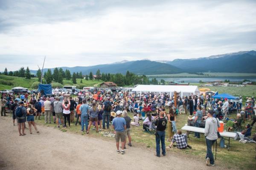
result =
[{"label": "large crowd of people gathered on the grass, standing and sitting", "polygon": [[[12,109],[13,125],[15,120],[18,124],[19,135],[26,135],[25,122],[29,124],[29,132],[32,133],[32,125],[35,131],[39,133],[35,119],[40,119],[44,115],[46,124],[53,123],[59,128],[70,128],[70,123],[75,126],[80,124],[81,131],[90,133],[93,130],[98,133],[102,129],[109,129],[110,124],[115,130],[117,153],[125,153],[126,141],[128,146],[131,144],[131,126],[140,126],[145,132],[154,131],[156,135],[156,156],[160,157],[160,143],[162,155],[166,155],[165,135],[167,129],[167,141],[171,142],[170,148],[176,146],[179,149],[187,147],[192,148],[187,143],[187,136],[182,134],[181,130],[176,127],[176,117],[179,112],[189,113],[188,120],[195,127],[200,127],[202,121],[205,122],[205,136],[207,143],[207,164],[214,165],[214,159],[211,151],[212,144],[218,138],[217,129],[219,127],[219,118],[228,118],[228,114],[234,109],[234,102],[224,99],[214,99],[210,95],[190,95],[174,96],[167,93],[142,93],[130,94],[128,92],[105,92],[105,90],[95,90],[94,92],[81,91],[77,98],[73,99],[70,94],[58,94],[45,96],[39,94],[9,94],[1,96],[1,115],[6,115],[6,108]],[[249,101],[250,100],[250,101]],[[240,100],[241,101],[241,100]],[[240,102],[239,101],[239,102]],[[237,103],[235,106],[240,107]],[[241,101],[242,102],[242,101]],[[175,107],[177,103],[177,107]],[[245,106],[245,115],[250,119],[253,109],[256,109],[255,99],[248,98]],[[207,111],[207,107],[210,108]],[[168,110],[168,112],[167,112]],[[133,119],[128,116],[128,112],[134,114]],[[194,116],[193,116],[194,115]],[[220,117],[223,115],[223,117]],[[76,118],[76,120],[75,120]],[[255,122],[255,119],[254,119]],[[236,124],[237,120],[233,121]],[[232,124],[232,123],[230,123]],[[230,125],[230,126],[233,126]],[[253,123],[254,124],[254,123]],[[252,125],[253,125],[252,124]],[[85,129],[84,129],[85,127]],[[167,128],[166,128],[167,127]],[[200,133],[195,133],[195,138],[200,138]],[[121,139],[121,152],[119,150],[119,140]],[[176,142],[176,145],[174,144]]]}]

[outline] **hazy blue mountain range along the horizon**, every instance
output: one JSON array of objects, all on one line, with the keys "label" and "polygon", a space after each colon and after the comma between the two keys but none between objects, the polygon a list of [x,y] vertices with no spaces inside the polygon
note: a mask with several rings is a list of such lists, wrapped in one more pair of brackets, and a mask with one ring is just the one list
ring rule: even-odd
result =
[{"label": "hazy blue mountain range along the horizon", "polygon": [[[137,75],[175,74],[181,72],[241,72],[256,73],[256,51],[234,52],[223,55],[214,55],[205,58],[175,59],[173,61],[150,61],[148,59],[138,61],[120,61],[111,64],[96,66],[61,67],[69,69],[71,73],[82,72],[89,74],[99,69],[104,73],[122,73],[127,71]],[[52,68],[52,72],[53,72]],[[30,70],[36,72],[36,70]],[[46,72],[47,69],[44,69]]]}]

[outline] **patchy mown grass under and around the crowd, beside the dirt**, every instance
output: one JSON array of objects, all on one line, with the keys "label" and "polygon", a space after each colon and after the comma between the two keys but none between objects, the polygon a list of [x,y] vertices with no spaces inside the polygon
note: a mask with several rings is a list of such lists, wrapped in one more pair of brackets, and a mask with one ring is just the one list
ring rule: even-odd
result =
[{"label": "patchy mown grass under and around the crowd, beside the dirt", "polygon": [[[128,115],[133,118],[132,113],[128,113]],[[235,118],[236,114],[232,114],[230,117]],[[177,116],[177,128],[181,129],[187,123],[187,117],[188,115],[180,114]],[[53,122],[53,121],[52,121]],[[36,120],[36,123],[44,125],[44,126],[50,126],[55,127],[56,124],[45,124],[43,117],[41,120]],[[246,121],[246,123],[251,123]],[[244,124],[243,124],[244,127]],[[55,127],[56,128],[56,127]],[[227,129],[225,127],[225,129]],[[81,127],[75,126],[75,124],[71,124],[70,129],[69,128],[60,128],[60,130],[63,133],[70,132],[70,133],[77,133],[79,135],[87,135],[85,133],[81,133]],[[113,130],[110,130],[113,132]],[[183,131],[185,133],[185,131]],[[253,128],[252,134],[256,133],[255,128]],[[113,141],[114,145],[114,138],[108,138],[104,137],[103,135],[96,133],[95,130],[90,130],[90,136],[102,138],[104,140],[111,140]],[[139,127],[131,126],[131,137],[132,137],[132,143],[133,145],[145,147],[145,148],[152,148],[155,150],[155,135],[154,134],[148,134],[143,132],[142,127],[142,121],[141,125]],[[166,134],[166,140],[167,140],[167,134]],[[201,134],[201,138],[194,138],[193,134],[190,135],[190,140],[188,143],[192,146],[192,150],[186,149],[186,150],[179,150],[177,148],[172,148],[170,150],[167,150],[167,154],[174,154],[179,155],[182,157],[197,157],[201,159],[202,162],[205,161],[205,155],[206,155],[206,144],[205,144],[205,138],[204,135]],[[166,146],[168,146],[170,142],[166,141]],[[227,145],[227,141],[225,141],[225,144]],[[152,153],[154,154],[154,153]],[[239,141],[235,141],[233,139],[230,140],[230,150],[228,151],[227,148],[220,148],[219,147],[219,140],[218,140],[218,146],[217,146],[217,160],[216,164],[218,166],[224,166],[229,169],[239,169],[239,170],[251,170],[254,169],[253,167],[256,166],[255,161],[255,144],[253,143],[247,143],[242,144],[239,143]]]}]

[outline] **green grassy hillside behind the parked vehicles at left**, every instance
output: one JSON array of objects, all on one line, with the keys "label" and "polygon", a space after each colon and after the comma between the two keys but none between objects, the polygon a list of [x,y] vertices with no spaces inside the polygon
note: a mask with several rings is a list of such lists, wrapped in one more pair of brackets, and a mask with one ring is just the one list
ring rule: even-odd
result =
[{"label": "green grassy hillside behind the parked vehicles at left", "polygon": [[[82,79],[83,83],[80,83],[81,79],[77,78],[75,86],[78,88],[82,88],[83,86],[99,86],[103,81],[99,80],[85,80]],[[14,77],[14,76],[8,76],[8,75],[0,75],[0,90],[3,89],[12,89],[13,87],[21,86],[25,87],[28,89],[34,89],[32,88],[32,84],[34,82],[38,82],[38,78],[31,78],[31,79],[26,79],[26,78],[20,78],[20,77]],[[74,85],[72,80],[63,80],[63,85]],[[59,88],[61,86],[58,86]]]}]

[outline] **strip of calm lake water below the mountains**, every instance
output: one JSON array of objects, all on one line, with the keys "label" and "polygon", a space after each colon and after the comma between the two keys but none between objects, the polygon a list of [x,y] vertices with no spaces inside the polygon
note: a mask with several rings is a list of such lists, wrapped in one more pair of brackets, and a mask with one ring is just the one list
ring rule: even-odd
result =
[{"label": "strip of calm lake water below the mountains", "polygon": [[250,81],[256,81],[256,77],[224,77],[224,78],[157,78],[158,81],[161,79],[164,79],[165,81],[177,81],[181,82],[184,81],[185,83],[199,83],[199,81],[203,82],[212,82],[212,81],[225,81],[230,80],[231,82],[237,82],[237,81],[243,81],[244,79],[250,80]]}]

